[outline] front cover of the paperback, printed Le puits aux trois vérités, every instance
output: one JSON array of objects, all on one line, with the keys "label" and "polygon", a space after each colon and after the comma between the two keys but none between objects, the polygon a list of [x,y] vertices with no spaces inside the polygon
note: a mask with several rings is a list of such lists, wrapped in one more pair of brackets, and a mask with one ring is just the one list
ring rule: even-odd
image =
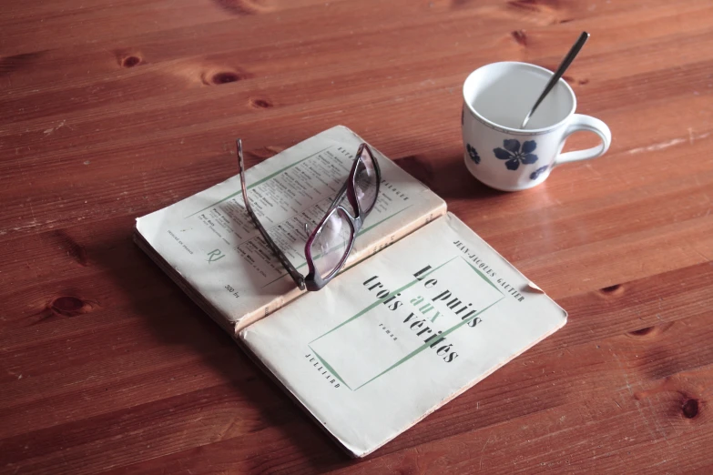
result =
[{"label": "front cover of the paperback, printed Le puits aux trois v\u00e9rit\u00e9s", "polygon": [[565,325],[530,284],[448,214],[239,339],[361,457]]}]

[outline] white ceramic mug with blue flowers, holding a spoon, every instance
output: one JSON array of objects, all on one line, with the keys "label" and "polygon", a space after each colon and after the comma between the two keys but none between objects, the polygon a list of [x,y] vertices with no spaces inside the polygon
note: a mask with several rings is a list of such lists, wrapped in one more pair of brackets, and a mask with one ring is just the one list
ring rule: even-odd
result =
[{"label": "white ceramic mug with blue flowers, holding a spoon", "polygon": [[[560,79],[530,117],[553,75],[526,63],[493,63],[476,69],[463,84],[463,147],[465,166],[488,187],[518,191],[539,185],[552,168],[603,155],[611,132],[601,120],[575,114],[576,97]],[[596,133],[598,147],[562,152],[567,136],[577,131]]]}]

